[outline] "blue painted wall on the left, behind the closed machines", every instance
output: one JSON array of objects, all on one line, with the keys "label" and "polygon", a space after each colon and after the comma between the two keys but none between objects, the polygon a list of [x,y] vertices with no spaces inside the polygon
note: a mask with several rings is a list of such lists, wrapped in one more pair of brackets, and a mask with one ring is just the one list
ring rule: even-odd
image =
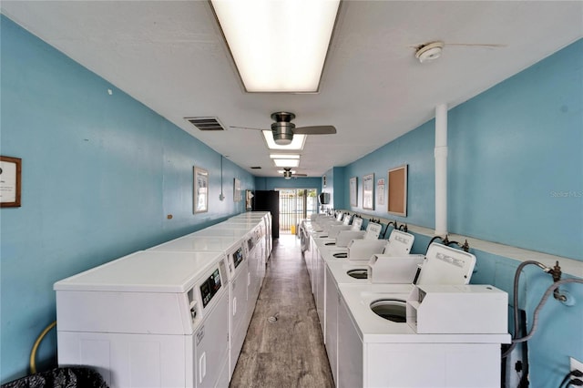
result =
[{"label": "blue painted wall on the left, behind the closed machines", "polygon": [[[23,160],[22,207],[0,210],[6,383],[27,373],[55,320],[55,281],[240,213],[233,178],[241,189],[255,181],[225,159],[220,201],[219,154],[4,15],[0,27],[0,153]],[[210,211],[197,215],[195,165],[210,173]],[[54,362],[55,337],[39,365]]]}]

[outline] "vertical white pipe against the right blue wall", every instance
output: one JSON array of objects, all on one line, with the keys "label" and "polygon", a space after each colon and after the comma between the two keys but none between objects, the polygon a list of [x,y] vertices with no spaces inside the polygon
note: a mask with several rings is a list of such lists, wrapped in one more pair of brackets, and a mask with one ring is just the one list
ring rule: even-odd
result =
[{"label": "vertical white pipe against the right blue wall", "polygon": [[447,105],[435,107],[435,235],[447,234]]}]

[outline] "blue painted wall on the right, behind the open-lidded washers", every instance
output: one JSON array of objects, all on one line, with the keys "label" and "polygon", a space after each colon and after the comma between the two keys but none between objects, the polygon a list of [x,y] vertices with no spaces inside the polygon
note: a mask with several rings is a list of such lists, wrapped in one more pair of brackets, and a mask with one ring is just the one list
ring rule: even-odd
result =
[{"label": "blue painted wall on the right, behind the open-lidded washers", "polygon": [[[466,101],[448,114],[448,227],[481,240],[583,260],[583,40]],[[343,208],[351,209],[349,179],[358,177],[353,211],[435,228],[435,121],[397,138],[344,168]],[[363,175],[385,178],[409,166],[408,215],[362,209]],[[334,179],[334,185],[336,185]],[[334,190],[336,197],[336,190]],[[430,237],[416,234],[422,253]],[[472,282],[493,284],[512,297],[519,264],[474,250]],[[520,307],[534,309],[552,283],[529,269],[521,278]],[[531,386],[557,386],[568,357],[583,360],[583,286],[565,287],[578,301],[550,298],[528,342]]]}]

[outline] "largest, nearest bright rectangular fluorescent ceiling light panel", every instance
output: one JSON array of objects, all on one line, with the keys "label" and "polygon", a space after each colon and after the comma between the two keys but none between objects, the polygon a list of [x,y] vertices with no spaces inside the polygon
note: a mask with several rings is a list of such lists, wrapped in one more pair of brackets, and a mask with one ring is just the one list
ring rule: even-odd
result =
[{"label": "largest, nearest bright rectangular fluorescent ceiling light panel", "polygon": [[340,0],[210,3],[246,91],[318,91]]}]

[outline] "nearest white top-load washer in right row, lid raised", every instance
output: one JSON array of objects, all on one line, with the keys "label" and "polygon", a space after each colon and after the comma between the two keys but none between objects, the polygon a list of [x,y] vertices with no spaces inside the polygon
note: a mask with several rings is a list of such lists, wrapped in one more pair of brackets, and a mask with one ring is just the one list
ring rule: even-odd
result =
[{"label": "nearest white top-load washer in right row, lid raised", "polygon": [[[470,253],[433,243],[427,250],[415,286],[339,284],[336,380],[339,386],[499,386],[500,346],[510,341],[506,332],[507,294],[491,286],[467,285],[475,262],[476,258]],[[432,287],[449,289],[439,292]],[[481,324],[477,332],[465,329],[419,333],[414,324],[406,322],[405,313],[405,301],[412,300],[415,306],[420,304],[417,288],[435,292],[428,301],[440,301],[442,306],[447,304],[444,300],[449,298],[455,303],[458,296],[454,295],[465,293],[465,297],[479,297],[474,303],[465,303],[464,308],[473,306],[479,311],[481,306],[486,306],[482,301],[488,299],[488,311],[495,313],[487,319],[493,324]],[[435,314],[435,308],[431,307],[438,304],[427,304],[424,313],[434,311]],[[491,304],[496,308],[490,309]],[[451,311],[444,309],[439,314],[454,321],[456,316],[463,316]],[[425,314],[424,322],[427,321],[431,322],[432,317],[427,319]],[[443,329],[443,320],[437,321]],[[465,326],[465,323],[473,324],[470,321],[456,322],[453,327]]]}]

